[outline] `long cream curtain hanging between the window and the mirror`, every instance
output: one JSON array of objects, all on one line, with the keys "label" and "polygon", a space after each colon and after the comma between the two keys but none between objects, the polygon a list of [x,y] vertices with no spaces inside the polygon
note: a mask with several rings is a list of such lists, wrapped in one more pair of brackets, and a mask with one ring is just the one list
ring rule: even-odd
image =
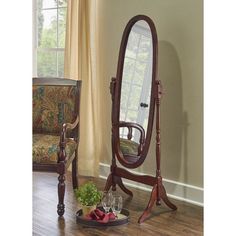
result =
[{"label": "long cream curtain hanging between the window and the mirror", "polygon": [[90,176],[99,173],[102,133],[96,9],[96,0],[68,0],[64,68],[65,77],[82,80],[78,169]]}]

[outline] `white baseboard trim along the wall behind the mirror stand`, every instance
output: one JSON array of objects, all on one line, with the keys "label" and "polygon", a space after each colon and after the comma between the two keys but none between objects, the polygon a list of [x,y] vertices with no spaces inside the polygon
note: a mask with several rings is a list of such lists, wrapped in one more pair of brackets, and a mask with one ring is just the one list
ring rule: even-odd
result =
[{"label": "white baseboard trim along the wall behind the mirror stand", "polygon": [[[145,175],[145,173],[132,171],[132,170],[129,170],[129,171],[133,174]],[[99,163],[99,177],[102,179],[106,179],[109,173],[110,173],[110,165],[100,162]],[[152,191],[152,187],[145,184],[136,183],[128,179],[124,179],[123,182],[124,184],[130,187],[138,188],[138,189],[149,191],[149,192]],[[169,180],[169,179],[164,179],[164,178],[163,178],[163,184],[165,186],[167,195],[170,198],[188,202],[197,206],[202,206],[202,207],[204,206],[203,204],[204,189],[203,188]]]}]

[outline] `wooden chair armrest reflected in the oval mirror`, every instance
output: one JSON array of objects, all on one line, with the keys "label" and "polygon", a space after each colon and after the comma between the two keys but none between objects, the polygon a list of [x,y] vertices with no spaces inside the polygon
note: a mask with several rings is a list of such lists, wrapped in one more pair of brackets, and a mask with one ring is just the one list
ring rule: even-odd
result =
[{"label": "wooden chair armrest reflected in the oval mirror", "polygon": [[138,147],[138,155],[140,155],[141,151],[143,150],[143,146],[144,146],[144,142],[145,142],[144,128],[137,123],[125,122],[125,121],[120,121],[118,126],[119,126],[119,128],[121,128],[121,127],[128,128],[128,135],[127,135],[128,140],[131,140],[131,138],[132,138],[133,128],[137,129],[140,132],[139,147]]}]

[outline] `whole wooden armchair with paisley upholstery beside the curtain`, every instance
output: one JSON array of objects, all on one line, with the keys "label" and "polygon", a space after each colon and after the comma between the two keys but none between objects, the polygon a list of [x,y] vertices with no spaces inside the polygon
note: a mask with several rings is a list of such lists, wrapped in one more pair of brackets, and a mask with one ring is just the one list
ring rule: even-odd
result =
[{"label": "whole wooden armchair with paisley upholstery beside the curtain", "polygon": [[78,187],[81,81],[33,78],[33,171],[56,172],[57,213],[65,211],[65,172],[72,164],[73,189]]}]

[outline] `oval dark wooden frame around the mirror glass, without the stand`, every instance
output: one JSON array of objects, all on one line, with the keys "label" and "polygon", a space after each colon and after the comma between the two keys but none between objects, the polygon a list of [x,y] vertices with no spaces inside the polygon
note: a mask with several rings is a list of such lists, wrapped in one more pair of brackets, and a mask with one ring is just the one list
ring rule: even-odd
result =
[{"label": "oval dark wooden frame around the mirror glass, without the stand", "polygon": [[[120,122],[120,101],[121,101],[121,87],[122,87],[122,77],[123,77],[123,69],[124,69],[124,61],[125,61],[125,52],[127,48],[127,43],[129,39],[130,32],[132,27],[138,21],[145,21],[152,35],[152,80],[151,80],[151,96],[150,96],[150,108],[149,108],[149,117],[148,117],[148,126],[147,132],[144,133],[143,136],[143,127],[137,123],[132,122]],[[152,136],[152,127],[153,127],[153,117],[154,117],[154,109],[155,109],[155,80],[156,80],[156,72],[157,72],[157,33],[156,28],[153,21],[145,16],[145,15],[137,15],[133,17],[125,27],[123,32],[122,41],[120,45],[119,51],[119,59],[118,59],[118,66],[117,66],[117,73],[116,73],[116,86],[114,91],[114,111],[112,112],[112,132],[114,133],[114,139],[116,140],[114,143],[114,152],[117,156],[119,162],[127,167],[127,168],[137,168],[144,162],[148,149],[150,146],[151,136]],[[124,123],[126,123],[126,127],[128,129],[135,128],[140,131],[140,152],[136,158],[133,155],[123,154],[120,149],[120,142],[119,142],[119,129],[120,127],[124,127]],[[128,162],[127,159],[136,159],[135,162]]]}]

